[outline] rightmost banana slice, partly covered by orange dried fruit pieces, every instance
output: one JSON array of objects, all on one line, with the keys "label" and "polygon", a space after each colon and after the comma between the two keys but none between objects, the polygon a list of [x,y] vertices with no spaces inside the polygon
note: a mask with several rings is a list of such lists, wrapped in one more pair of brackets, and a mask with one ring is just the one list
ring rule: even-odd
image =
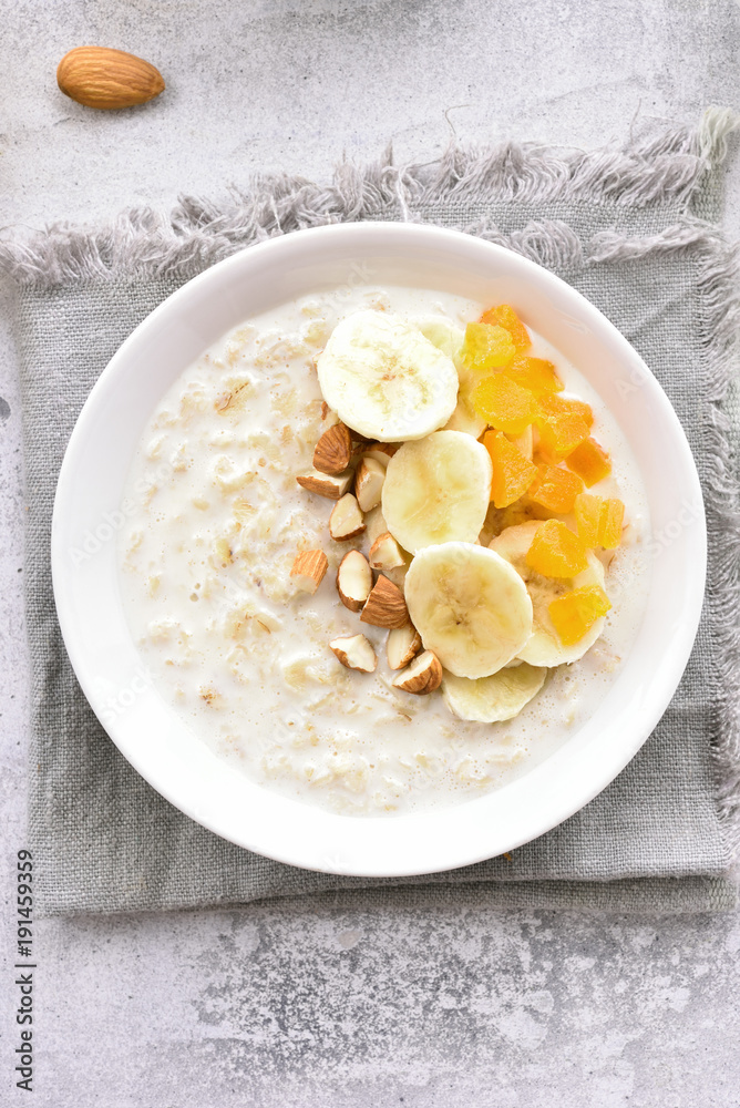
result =
[{"label": "rightmost banana slice, partly covered by orange dried fruit pieces", "polygon": [[494,538],[489,548],[505,558],[526,584],[532,597],[534,609],[534,629],[532,638],[518,657],[531,666],[561,666],[564,663],[577,661],[588,650],[604,629],[604,616],[597,619],[590,630],[574,646],[563,646],[557,632],[549,618],[547,607],[558,596],[569,593],[580,585],[600,585],[604,588],[604,566],[598,558],[588,552],[588,568],[576,577],[557,578],[543,577],[526,564],[526,552],[532,545],[534,533],[539,526],[535,520],[532,523],[521,523],[515,527],[506,527]]}]

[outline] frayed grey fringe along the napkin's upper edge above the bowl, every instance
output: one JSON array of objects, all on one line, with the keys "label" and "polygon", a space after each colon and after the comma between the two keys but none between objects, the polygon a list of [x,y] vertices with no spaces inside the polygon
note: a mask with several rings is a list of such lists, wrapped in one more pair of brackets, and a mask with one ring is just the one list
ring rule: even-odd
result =
[{"label": "frayed grey fringe along the napkin's upper edge above the bowl", "polygon": [[[724,157],[727,136],[739,120],[729,109],[709,107],[698,127],[670,125],[658,136],[630,136],[624,148],[452,145],[435,161],[407,166],[393,165],[389,146],[377,162],[342,162],[327,185],[285,174],[258,175],[247,191],[234,188],[219,202],[184,196],[169,215],[135,208],[100,229],[54,224],[25,238],[11,234],[0,242],[0,271],[40,289],[70,280],[187,279],[276,235],[382,218],[390,207],[403,219],[420,219],[424,208],[455,199],[688,204],[706,171]],[[507,236],[484,225],[465,229],[548,268],[575,268],[584,260],[577,236],[557,220],[532,222]]]}]

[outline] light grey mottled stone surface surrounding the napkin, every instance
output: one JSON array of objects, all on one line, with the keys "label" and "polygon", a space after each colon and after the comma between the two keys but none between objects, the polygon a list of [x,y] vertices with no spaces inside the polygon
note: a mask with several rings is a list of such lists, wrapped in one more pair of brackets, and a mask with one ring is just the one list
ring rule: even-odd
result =
[{"label": "light grey mottled stone surface surrounding the napkin", "polygon": [[[255,170],[326,176],[505,136],[595,145],[740,107],[728,0],[0,0],[0,226],[99,219]],[[65,100],[75,45],[157,64],[160,101]],[[740,158],[728,229],[740,235]],[[12,1085],[27,669],[20,411],[0,331],[0,1104]],[[8,406],[10,413],[8,414]],[[6,417],[8,417],[6,419]],[[736,1108],[740,916],[277,909],[35,929],[49,1108]]]}]

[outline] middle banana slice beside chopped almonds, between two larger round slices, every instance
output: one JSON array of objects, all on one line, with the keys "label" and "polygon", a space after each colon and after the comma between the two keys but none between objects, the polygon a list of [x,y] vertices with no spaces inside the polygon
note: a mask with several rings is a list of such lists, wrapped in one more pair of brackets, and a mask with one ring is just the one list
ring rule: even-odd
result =
[{"label": "middle banana slice beside chopped almonds, between two larger round slices", "polygon": [[412,554],[435,543],[474,543],[489,510],[492,475],[485,447],[462,431],[405,442],[386,470],[388,530]]}]

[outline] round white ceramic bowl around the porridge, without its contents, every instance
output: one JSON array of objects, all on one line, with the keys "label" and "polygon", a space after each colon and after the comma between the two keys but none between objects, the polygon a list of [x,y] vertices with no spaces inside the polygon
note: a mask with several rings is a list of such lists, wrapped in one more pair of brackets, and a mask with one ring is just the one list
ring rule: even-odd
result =
[{"label": "round white ceramic bowl around the porridge, without its contents", "polygon": [[[144,424],[175,378],[249,316],[347,284],[513,300],[590,381],[640,468],[660,543],[635,646],[598,710],[543,763],[496,792],[422,814],[352,818],[292,801],[215,757],[142,678],[119,593],[116,512]],[[628,386],[628,387],[625,387]],[[691,505],[687,520],[687,505]],[[567,819],[627,765],[670,700],[703,596],[706,526],[681,427],[629,343],[578,293],[508,250],[456,232],[350,224],[254,246],[189,281],[123,343],[82,410],[54,505],[56,608],[93,710],[131,765],[192,819],[241,847],[307,869],[395,876],[501,854]],[[92,538],[90,536],[93,536]],[[71,556],[86,541],[99,548]],[[110,698],[117,709],[110,711]]]}]

